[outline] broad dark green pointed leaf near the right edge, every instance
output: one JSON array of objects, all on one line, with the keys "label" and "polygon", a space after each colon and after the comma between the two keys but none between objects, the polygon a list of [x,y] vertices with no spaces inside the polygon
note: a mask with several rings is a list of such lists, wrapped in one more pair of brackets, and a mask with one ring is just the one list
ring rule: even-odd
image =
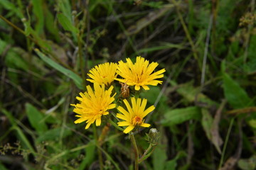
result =
[{"label": "broad dark green pointed leaf near the right edge", "polygon": [[223,88],[225,98],[233,108],[252,106],[252,100],[245,90],[225,72],[223,72]]}]

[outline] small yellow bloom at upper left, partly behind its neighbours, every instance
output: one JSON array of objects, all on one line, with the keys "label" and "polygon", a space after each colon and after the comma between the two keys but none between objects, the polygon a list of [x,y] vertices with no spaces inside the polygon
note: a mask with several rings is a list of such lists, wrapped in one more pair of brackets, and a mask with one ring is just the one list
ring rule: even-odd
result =
[{"label": "small yellow bloom at upper left, partly behind its neighbours", "polygon": [[94,68],[90,69],[90,73],[87,75],[91,79],[86,79],[92,83],[106,84],[109,86],[112,81],[117,77],[117,63],[106,62],[104,64],[99,64]]}]

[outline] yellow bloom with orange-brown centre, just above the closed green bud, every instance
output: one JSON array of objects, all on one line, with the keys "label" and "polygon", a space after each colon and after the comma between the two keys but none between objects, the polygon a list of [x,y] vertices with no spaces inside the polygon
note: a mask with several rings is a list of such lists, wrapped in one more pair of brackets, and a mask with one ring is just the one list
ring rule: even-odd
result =
[{"label": "yellow bloom with orange-brown centre, just above the closed green bud", "polygon": [[132,107],[128,103],[126,99],[124,99],[124,104],[127,107],[127,111],[122,107],[118,106],[117,110],[120,113],[117,113],[117,118],[120,118],[124,121],[117,123],[119,126],[128,126],[124,133],[131,132],[136,126],[142,126],[148,128],[150,125],[148,123],[144,123],[144,117],[149,114],[151,111],[154,111],[154,106],[150,106],[146,109],[146,99],[144,98],[131,98]]}]

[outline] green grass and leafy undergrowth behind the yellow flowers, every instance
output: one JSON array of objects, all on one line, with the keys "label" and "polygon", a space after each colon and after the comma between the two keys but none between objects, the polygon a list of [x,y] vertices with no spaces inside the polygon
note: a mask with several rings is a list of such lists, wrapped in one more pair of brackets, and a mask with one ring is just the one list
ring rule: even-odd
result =
[{"label": "green grass and leafy undergrowth behind the yellow flowers", "polygon": [[96,145],[105,123],[75,125],[70,103],[95,64],[138,55],[166,69],[141,94],[161,137],[140,169],[255,169],[255,0],[0,0],[0,11],[0,169],[99,169],[97,148],[104,169],[133,169],[127,135],[110,126]]}]

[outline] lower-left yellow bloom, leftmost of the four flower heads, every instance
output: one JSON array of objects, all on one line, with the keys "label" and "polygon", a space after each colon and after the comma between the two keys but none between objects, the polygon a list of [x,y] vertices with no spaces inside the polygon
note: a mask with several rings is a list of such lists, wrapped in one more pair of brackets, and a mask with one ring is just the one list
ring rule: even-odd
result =
[{"label": "lower-left yellow bloom, leftmost of the four flower heads", "polygon": [[111,96],[113,86],[110,86],[105,91],[105,84],[100,86],[100,84],[95,83],[93,85],[95,91],[92,91],[90,86],[86,86],[87,91],[80,93],[81,97],[76,97],[80,103],[71,104],[71,106],[75,106],[74,112],[78,113],[78,115],[75,115],[78,117],[75,123],[86,121],[87,125],[85,129],[89,128],[95,120],[96,126],[100,126],[102,115],[109,114],[108,110],[116,107],[116,104],[112,103],[115,95]]}]

